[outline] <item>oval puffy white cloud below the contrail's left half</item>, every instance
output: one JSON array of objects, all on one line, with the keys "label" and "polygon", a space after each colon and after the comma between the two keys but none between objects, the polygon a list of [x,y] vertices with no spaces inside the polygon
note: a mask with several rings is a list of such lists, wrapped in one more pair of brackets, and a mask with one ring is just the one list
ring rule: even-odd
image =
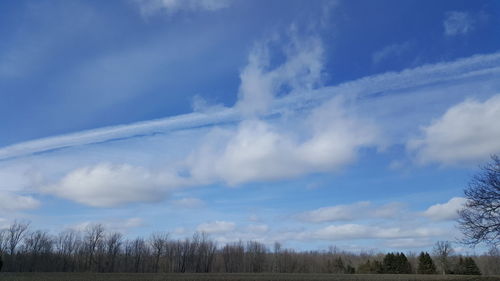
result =
[{"label": "oval puffy white cloud below the contrail's left half", "polygon": [[167,173],[127,164],[98,164],[76,169],[42,190],[94,207],[111,207],[130,202],[158,202],[179,179]]}]

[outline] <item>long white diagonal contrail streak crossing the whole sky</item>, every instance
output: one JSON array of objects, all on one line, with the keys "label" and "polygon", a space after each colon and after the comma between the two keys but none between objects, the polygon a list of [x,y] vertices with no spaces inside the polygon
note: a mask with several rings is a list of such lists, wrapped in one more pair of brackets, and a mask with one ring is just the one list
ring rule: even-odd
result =
[{"label": "long white diagonal contrail streak crossing the whole sky", "polygon": [[[337,86],[323,87],[277,98],[268,115],[279,114],[290,109],[307,108],[337,94],[352,94],[360,99],[370,99],[415,87],[466,81],[471,78],[498,79],[498,77],[500,77],[500,52],[476,55],[453,62],[429,64],[401,72],[367,76]],[[193,112],[174,117],[80,131],[0,148],[0,161],[76,146],[150,136],[158,133],[168,134],[177,130],[203,126],[217,126],[228,122],[238,122],[242,118],[239,110],[232,107],[212,112]]]}]

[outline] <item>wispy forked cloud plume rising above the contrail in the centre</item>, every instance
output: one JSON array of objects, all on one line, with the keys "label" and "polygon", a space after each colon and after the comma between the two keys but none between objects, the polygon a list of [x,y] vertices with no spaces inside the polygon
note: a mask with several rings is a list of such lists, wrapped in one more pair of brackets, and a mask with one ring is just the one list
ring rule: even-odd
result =
[{"label": "wispy forked cloud plume rising above the contrail in the centre", "polygon": [[271,65],[269,44],[258,44],[240,74],[237,107],[244,114],[268,113],[276,95],[284,88],[290,93],[312,90],[321,82],[323,46],[318,38],[297,38],[283,49],[285,62]]}]

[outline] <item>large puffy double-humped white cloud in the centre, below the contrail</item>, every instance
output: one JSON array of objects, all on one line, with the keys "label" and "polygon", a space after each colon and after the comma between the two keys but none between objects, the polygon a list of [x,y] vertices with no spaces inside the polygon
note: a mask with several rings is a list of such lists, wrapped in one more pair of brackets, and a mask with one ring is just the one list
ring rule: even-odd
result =
[{"label": "large puffy double-humped white cloud in the centre, below the contrail", "polygon": [[253,119],[235,131],[216,130],[216,136],[190,156],[191,173],[237,185],[333,171],[354,161],[360,148],[378,141],[376,127],[350,115],[336,99],[315,109],[303,128],[299,134]]}]

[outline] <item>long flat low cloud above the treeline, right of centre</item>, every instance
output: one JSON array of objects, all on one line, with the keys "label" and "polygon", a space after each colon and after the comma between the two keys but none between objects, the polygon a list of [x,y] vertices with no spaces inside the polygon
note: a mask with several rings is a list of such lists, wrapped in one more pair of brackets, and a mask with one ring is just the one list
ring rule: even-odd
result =
[{"label": "long flat low cloud above the treeline, right of centre", "polygon": [[363,201],[349,205],[336,205],[319,208],[299,214],[297,218],[302,221],[315,223],[353,221],[371,218],[391,218],[401,213],[402,207],[403,206],[399,203],[374,206],[368,201]]}]

